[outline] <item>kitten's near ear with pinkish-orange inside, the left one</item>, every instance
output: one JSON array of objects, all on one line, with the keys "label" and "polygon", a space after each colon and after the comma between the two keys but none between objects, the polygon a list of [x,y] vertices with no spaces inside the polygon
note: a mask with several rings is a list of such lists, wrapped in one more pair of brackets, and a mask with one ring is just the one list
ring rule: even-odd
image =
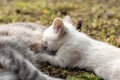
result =
[{"label": "kitten's near ear with pinkish-orange inside, the left one", "polygon": [[56,18],[53,21],[53,27],[56,32],[61,32],[64,30],[64,24],[61,18]]}]

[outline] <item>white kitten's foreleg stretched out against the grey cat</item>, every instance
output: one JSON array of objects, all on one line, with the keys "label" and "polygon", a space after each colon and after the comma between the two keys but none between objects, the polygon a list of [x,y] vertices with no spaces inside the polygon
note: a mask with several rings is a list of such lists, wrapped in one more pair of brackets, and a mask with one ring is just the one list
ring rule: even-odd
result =
[{"label": "white kitten's foreleg stretched out against the grey cat", "polygon": [[57,55],[49,55],[49,54],[37,54],[34,59],[36,62],[49,62],[52,65],[60,66],[62,68],[65,68],[67,66],[69,67],[76,67],[77,63],[79,62],[80,55],[79,53],[74,53],[74,51],[71,52],[57,52]]}]

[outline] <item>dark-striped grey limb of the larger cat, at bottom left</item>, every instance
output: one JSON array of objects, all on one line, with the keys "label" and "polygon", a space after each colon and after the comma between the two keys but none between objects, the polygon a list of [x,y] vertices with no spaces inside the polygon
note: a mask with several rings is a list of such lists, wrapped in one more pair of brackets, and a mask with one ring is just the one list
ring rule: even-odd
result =
[{"label": "dark-striped grey limb of the larger cat, at bottom left", "polygon": [[20,80],[62,80],[43,74],[9,46],[0,49],[0,64],[3,69],[14,72]]}]

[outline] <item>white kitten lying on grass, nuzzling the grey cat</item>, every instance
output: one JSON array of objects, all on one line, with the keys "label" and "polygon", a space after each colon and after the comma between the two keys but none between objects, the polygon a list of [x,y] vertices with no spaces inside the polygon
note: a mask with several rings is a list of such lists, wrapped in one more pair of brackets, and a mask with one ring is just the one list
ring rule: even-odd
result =
[{"label": "white kitten lying on grass, nuzzling the grey cat", "polygon": [[120,48],[77,31],[69,16],[55,18],[44,31],[42,42],[48,50],[57,52],[54,56],[38,54],[38,62],[47,61],[62,68],[85,68],[104,80],[120,80]]}]

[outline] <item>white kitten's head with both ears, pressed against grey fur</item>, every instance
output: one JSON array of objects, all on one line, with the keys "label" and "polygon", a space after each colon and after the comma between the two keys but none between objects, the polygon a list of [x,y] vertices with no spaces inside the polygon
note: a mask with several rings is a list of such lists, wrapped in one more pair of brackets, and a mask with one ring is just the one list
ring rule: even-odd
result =
[{"label": "white kitten's head with both ears, pressed against grey fur", "polygon": [[43,43],[48,50],[58,50],[70,33],[75,31],[71,18],[65,16],[63,19],[55,18],[52,25],[43,34]]}]

